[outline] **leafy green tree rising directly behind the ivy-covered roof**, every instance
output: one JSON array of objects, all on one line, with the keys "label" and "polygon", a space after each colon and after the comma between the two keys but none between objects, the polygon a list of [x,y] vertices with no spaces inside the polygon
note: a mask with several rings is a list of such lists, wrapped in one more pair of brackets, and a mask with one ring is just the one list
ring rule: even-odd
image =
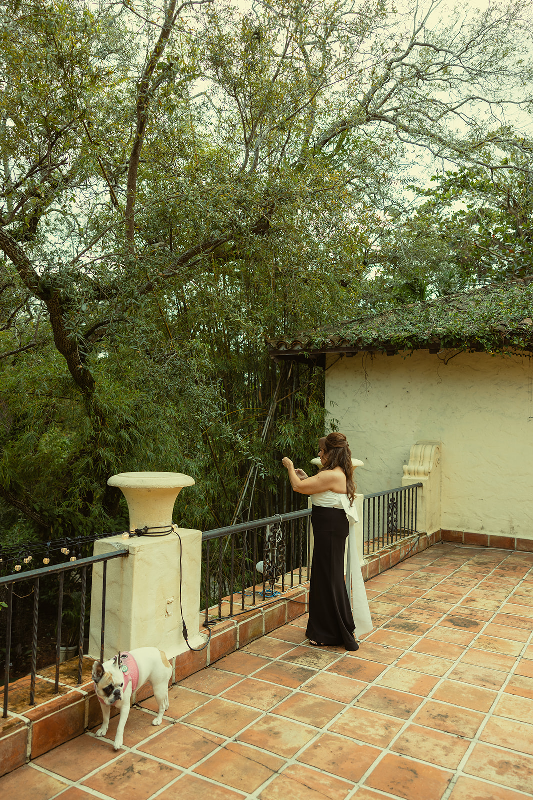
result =
[{"label": "leafy green tree rising directly behind the ivy-covered roof", "polygon": [[412,302],[533,277],[533,147],[504,133],[507,154],[499,148],[491,166],[445,170],[412,187],[414,210],[390,218],[368,256],[370,297]]}]

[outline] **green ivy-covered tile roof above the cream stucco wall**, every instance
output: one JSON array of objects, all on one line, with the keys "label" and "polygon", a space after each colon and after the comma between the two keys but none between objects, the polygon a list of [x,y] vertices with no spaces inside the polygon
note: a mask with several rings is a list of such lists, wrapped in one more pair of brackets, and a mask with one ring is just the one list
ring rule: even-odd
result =
[{"label": "green ivy-covered tile roof above the cream stucco wall", "polygon": [[269,342],[270,350],[533,350],[533,282],[491,284],[465,294],[391,306],[380,314]]}]

